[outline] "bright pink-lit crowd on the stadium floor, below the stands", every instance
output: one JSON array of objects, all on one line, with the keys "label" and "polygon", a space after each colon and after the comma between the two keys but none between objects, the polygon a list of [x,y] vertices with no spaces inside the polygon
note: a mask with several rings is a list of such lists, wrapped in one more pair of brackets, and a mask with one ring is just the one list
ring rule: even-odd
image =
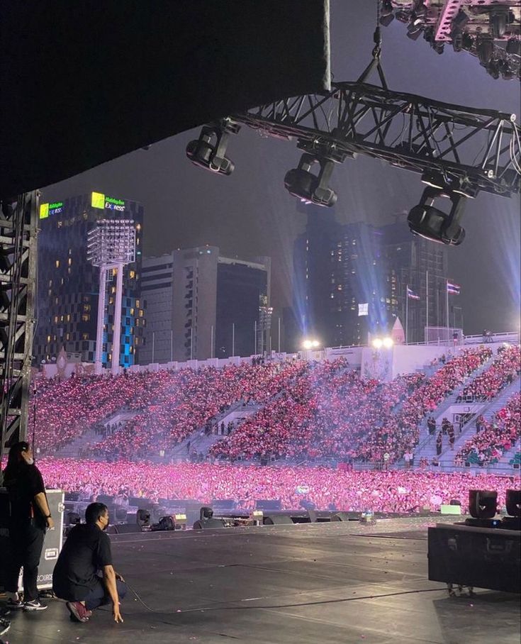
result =
[{"label": "bright pink-lit crowd on the stadium floor, below the stands", "polygon": [[325,467],[237,466],[210,464],[153,465],[116,462],[110,468],[97,461],[43,458],[38,461],[47,487],[86,492],[89,500],[100,494],[159,499],[233,499],[242,509],[253,509],[257,499],[280,499],[283,509],[313,504],[317,509],[382,512],[439,510],[453,499],[468,509],[469,489],[505,491],[517,487],[512,477],[468,473],[440,474],[413,470],[359,471]]}]

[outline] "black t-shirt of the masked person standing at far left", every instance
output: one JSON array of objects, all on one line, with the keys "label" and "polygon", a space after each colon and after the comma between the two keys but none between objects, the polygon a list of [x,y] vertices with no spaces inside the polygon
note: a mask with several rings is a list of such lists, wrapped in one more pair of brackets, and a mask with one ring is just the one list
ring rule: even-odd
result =
[{"label": "black t-shirt of the masked person standing at far left", "polygon": [[11,525],[23,527],[33,520],[33,525],[44,529],[47,525],[34,497],[43,492],[42,474],[36,465],[20,465],[18,472],[5,481],[11,503]]}]

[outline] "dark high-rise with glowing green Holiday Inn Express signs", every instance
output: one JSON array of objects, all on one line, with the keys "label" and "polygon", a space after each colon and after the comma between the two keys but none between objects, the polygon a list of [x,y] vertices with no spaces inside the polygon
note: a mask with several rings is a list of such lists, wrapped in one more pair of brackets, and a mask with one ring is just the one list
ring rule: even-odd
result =
[{"label": "dark high-rise with glowing green Holiday Inn Express signs", "polygon": [[[38,322],[33,353],[38,364],[62,348],[94,362],[99,297],[99,268],[87,261],[87,233],[101,219],[130,219],[135,225],[135,262],[123,270],[121,311],[122,367],[135,364],[145,323],[141,301],[143,206],[99,192],[40,205],[38,234]],[[103,328],[104,366],[110,365],[116,270],[106,280]]]}]

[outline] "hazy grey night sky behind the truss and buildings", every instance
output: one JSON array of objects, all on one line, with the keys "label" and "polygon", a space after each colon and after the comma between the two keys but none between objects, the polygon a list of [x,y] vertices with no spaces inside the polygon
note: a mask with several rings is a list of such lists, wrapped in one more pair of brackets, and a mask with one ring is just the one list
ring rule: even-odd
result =
[{"label": "hazy grey night sky behind the truss and buildings", "polygon": [[[368,64],[374,13],[374,1],[331,0],[335,80],[355,80]],[[437,55],[422,38],[406,38],[405,31],[396,20],[382,28],[383,70],[391,89],[515,113],[519,121],[521,98],[515,80],[492,79],[476,58],[455,54],[450,46]],[[235,172],[221,177],[186,159],[186,143],[197,137],[198,130],[189,131],[148,151],[125,155],[45,187],[43,198],[54,201],[96,190],[141,201],[145,255],[205,243],[218,245],[228,256],[270,255],[277,316],[291,303],[293,240],[305,223],[296,213],[296,200],[284,189],[284,174],[296,167],[300,152],[295,143],[260,138],[243,127],[228,146]],[[397,214],[407,213],[418,203],[423,187],[419,174],[362,157],[336,167],[331,185],[338,193],[341,223],[374,224],[391,223]],[[461,284],[461,295],[454,297],[464,309],[465,333],[519,329],[520,196],[505,199],[480,193],[469,200],[463,226],[466,239],[459,248],[449,248],[449,267],[450,277]]]}]

